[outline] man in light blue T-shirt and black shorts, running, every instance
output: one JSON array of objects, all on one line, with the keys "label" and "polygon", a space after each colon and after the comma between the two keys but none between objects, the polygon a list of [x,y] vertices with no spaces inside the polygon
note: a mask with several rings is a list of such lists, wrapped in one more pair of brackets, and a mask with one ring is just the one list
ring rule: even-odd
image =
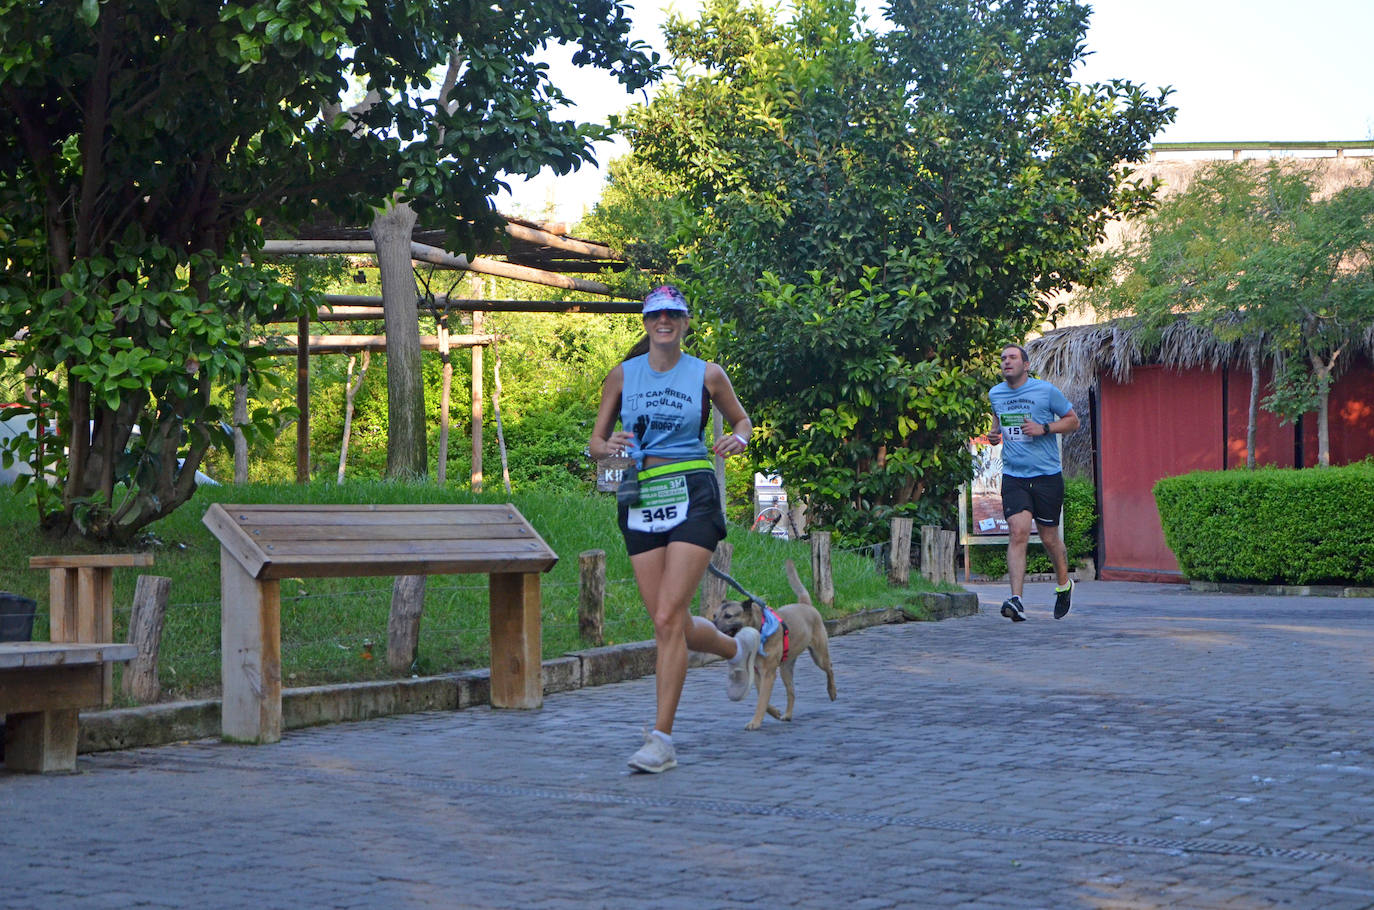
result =
[{"label": "man in light blue T-shirt and black shorts, running", "polygon": [[1030,375],[1030,362],[1021,345],[1002,349],[1002,382],[992,386],[992,430],[988,440],[1002,443],[1002,514],[1007,518],[1007,576],[1011,597],[1002,614],[1013,623],[1025,621],[1021,591],[1026,576],[1026,544],[1030,522],[1040,531],[1040,544],[1054,562],[1054,619],[1069,613],[1073,581],[1069,555],[1059,536],[1063,509],[1063,466],[1057,433],[1079,429],[1079,415],[1054,385]]}]

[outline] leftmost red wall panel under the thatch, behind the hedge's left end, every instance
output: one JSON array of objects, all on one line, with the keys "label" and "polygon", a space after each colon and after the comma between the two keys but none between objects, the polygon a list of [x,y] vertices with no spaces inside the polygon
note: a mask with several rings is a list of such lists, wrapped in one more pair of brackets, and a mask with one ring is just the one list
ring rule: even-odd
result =
[{"label": "leftmost red wall panel under the thatch, behind the hedge's left end", "polygon": [[[1150,492],[1154,481],[1223,467],[1221,374],[1136,367],[1098,393],[1099,510],[1106,580],[1183,581]],[[1241,429],[1243,463],[1243,423]]]}]

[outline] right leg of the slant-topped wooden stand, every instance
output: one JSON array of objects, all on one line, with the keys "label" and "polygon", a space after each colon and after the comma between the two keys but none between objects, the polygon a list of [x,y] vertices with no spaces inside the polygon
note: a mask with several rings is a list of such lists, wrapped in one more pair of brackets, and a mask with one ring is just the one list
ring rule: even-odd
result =
[{"label": "right leg of the slant-topped wooden stand", "polygon": [[492,573],[492,708],[544,704],[539,575]]}]

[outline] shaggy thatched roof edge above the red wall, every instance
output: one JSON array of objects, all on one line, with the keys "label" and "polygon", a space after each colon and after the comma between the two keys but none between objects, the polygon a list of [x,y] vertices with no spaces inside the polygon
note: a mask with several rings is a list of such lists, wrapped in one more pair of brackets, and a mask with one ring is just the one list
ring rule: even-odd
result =
[{"label": "shaggy thatched roof edge above the red wall", "polygon": [[[1249,364],[1245,342],[1219,341],[1208,327],[1184,316],[1160,333],[1157,341],[1147,341],[1136,320],[1124,316],[1091,326],[1055,329],[1028,341],[1025,348],[1036,374],[1074,400],[1085,395],[1099,375],[1125,382],[1131,370],[1142,364],[1180,370]],[[1374,360],[1374,324],[1366,327],[1351,353]]]}]

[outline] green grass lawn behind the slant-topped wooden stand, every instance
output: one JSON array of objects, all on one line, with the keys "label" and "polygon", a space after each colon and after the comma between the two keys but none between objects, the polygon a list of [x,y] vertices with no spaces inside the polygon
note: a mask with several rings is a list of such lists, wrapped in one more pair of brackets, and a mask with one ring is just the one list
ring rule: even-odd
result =
[{"label": "green grass lawn behind the slant-topped wooden stand", "polygon": [[[220,686],[220,547],[201,524],[212,502],[232,503],[503,503],[513,502],[559,555],[543,576],[543,653],[556,657],[587,647],[577,631],[577,555],[606,551],[607,643],[653,638],[653,625],[639,601],[629,558],[616,529],[609,495],[525,493],[481,495],[433,484],[333,482],[311,485],[260,484],[202,487],[174,514],[150,528],[147,546],[155,564],[142,572],[172,579],[162,632],[159,675],[162,698],[217,696]],[[100,553],[81,540],[51,540],[37,531],[29,493],[0,489],[0,590],[38,602],[34,638],[47,638],[47,572],[29,569],[38,554]],[[797,562],[811,584],[807,542],[779,540],[732,526],[731,575],[768,603],[790,602],[783,562]],[[128,635],[133,587],[140,570],[117,569],[114,583],[115,639]],[[905,603],[912,591],[934,590],[916,573],[908,588],[892,588],[867,554],[834,553],[835,605],[827,617]],[[284,579],[282,581],[283,685],[383,679],[386,620],[392,579]],[[419,656],[411,672],[430,675],[488,665],[486,576],[431,576],[420,621]],[[118,672],[118,671],[115,671]]]}]

